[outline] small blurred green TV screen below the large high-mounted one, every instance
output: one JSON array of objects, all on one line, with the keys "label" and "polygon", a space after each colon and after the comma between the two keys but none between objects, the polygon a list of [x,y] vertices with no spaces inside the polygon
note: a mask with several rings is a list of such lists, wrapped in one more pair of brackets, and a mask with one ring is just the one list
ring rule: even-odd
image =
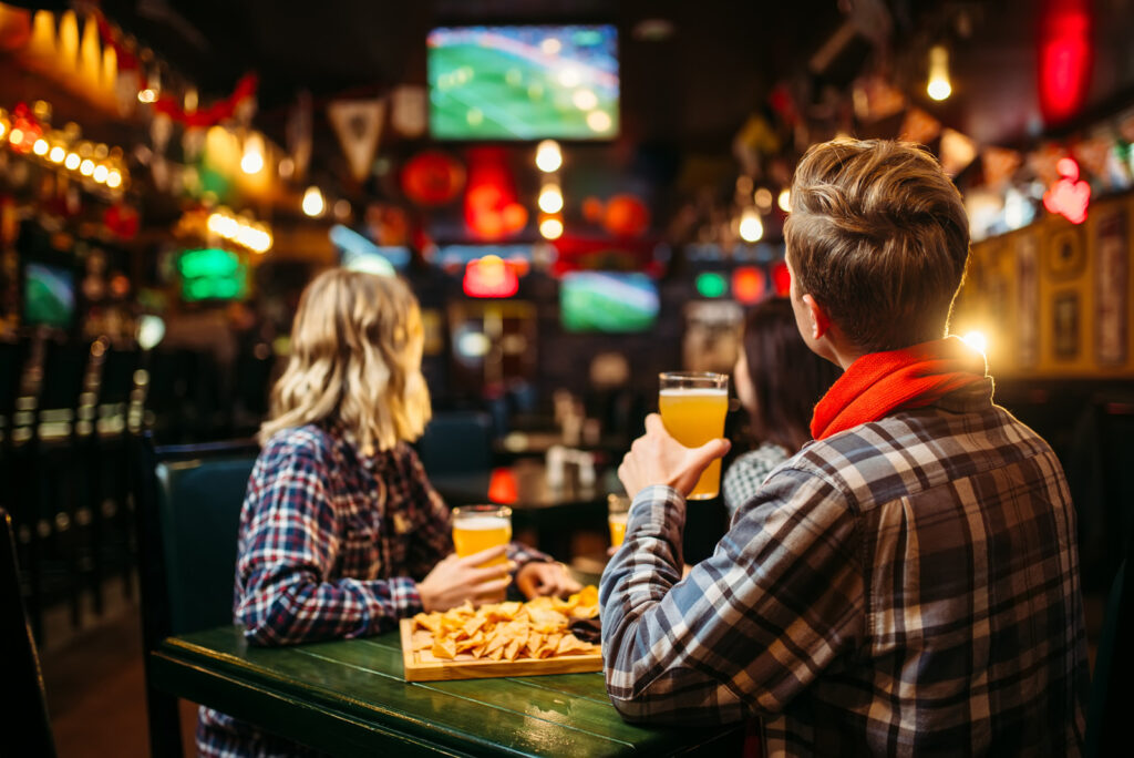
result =
[{"label": "small blurred green TV screen below the large high-mounted one", "polygon": [[572,271],[559,287],[567,331],[646,331],[658,320],[658,287],[644,273]]}]

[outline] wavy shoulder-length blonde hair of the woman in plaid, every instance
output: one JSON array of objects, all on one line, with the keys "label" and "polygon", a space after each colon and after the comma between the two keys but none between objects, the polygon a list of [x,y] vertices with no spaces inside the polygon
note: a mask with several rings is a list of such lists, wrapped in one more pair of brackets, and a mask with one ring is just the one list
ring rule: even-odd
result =
[{"label": "wavy shoulder-length blonde hair of the woman in plaid", "polygon": [[272,387],[260,441],[293,427],[339,422],[365,454],[421,437],[430,419],[417,300],[393,277],[320,273],[299,298],[291,357]]}]

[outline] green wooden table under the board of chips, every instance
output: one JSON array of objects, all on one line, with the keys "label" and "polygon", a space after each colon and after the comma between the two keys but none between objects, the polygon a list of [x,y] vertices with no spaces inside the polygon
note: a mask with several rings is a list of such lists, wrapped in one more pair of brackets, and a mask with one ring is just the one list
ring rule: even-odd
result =
[{"label": "green wooden table under the board of chips", "polygon": [[625,723],[602,674],[452,682],[403,679],[397,633],[249,647],[235,626],[151,652],[160,690],[336,756],[738,755],[738,728]]}]

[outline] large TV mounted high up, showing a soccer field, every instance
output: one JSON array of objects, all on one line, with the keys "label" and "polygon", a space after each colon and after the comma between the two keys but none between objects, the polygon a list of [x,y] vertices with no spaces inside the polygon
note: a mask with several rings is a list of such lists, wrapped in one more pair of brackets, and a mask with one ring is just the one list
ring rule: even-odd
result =
[{"label": "large TV mounted high up, showing a soccer field", "polygon": [[429,34],[438,140],[609,140],[618,134],[613,26],[460,26]]}]

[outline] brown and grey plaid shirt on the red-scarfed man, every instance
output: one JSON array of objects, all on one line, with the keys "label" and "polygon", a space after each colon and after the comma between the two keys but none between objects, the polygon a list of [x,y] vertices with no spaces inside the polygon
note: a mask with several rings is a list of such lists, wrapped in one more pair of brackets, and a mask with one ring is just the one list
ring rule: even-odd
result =
[{"label": "brown and grey plaid shirt on the red-scarfed man", "polygon": [[601,583],[623,716],[760,716],[768,756],[1078,755],[1075,514],[1051,448],[991,397],[809,444],[684,581],[685,503],[641,491]]}]

